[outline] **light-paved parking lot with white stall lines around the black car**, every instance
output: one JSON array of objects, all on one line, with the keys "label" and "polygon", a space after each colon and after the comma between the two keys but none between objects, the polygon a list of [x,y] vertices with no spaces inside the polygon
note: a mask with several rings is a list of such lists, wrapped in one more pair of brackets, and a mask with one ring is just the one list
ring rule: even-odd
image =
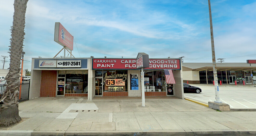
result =
[{"label": "light-paved parking lot with white stall lines around the black car", "polygon": [[[215,100],[214,85],[190,84],[202,89],[199,94],[184,93],[187,98],[192,98],[203,103]],[[256,85],[219,85],[220,99],[229,104],[230,108],[253,108],[256,109]]]}]

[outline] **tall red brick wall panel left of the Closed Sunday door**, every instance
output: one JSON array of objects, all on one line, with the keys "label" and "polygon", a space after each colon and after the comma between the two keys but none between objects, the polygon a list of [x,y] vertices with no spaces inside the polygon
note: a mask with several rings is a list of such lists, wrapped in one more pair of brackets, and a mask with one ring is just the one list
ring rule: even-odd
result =
[{"label": "tall red brick wall panel left of the Closed Sunday door", "polygon": [[40,97],[55,97],[56,96],[56,70],[42,70]]}]

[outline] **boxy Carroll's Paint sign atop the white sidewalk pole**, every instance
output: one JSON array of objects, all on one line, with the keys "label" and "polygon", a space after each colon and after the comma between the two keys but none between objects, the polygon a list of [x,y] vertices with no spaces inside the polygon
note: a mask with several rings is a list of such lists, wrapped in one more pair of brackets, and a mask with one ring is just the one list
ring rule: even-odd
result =
[{"label": "boxy Carroll's Paint sign atop the white sidewalk pole", "polygon": [[136,68],[149,67],[149,55],[146,53],[138,53],[136,58]]}]

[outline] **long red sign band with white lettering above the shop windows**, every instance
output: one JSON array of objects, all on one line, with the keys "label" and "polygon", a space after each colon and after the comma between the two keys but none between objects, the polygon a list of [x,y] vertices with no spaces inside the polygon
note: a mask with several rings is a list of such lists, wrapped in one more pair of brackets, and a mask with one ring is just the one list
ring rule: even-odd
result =
[{"label": "long red sign band with white lettering above the shop windows", "polygon": [[[92,59],[92,69],[136,69],[136,59]],[[145,69],[181,70],[180,59],[149,59],[149,67]]]}]

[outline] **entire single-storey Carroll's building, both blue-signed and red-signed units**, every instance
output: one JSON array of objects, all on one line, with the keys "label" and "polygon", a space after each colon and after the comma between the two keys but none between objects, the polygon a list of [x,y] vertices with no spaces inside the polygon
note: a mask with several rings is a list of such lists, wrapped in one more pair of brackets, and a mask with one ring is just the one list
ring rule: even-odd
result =
[{"label": "entire single-storey Carroll's building, both blue-signed and red-signed units", "polygon": [[[144,69],[145,96],[183,99],[180,58],[149,59]],[[175,84],[167,84],[165,70],[172,70]],[[29,99],[37,97],[141,96],[140,69],[135,58],[32,58]]]}]

